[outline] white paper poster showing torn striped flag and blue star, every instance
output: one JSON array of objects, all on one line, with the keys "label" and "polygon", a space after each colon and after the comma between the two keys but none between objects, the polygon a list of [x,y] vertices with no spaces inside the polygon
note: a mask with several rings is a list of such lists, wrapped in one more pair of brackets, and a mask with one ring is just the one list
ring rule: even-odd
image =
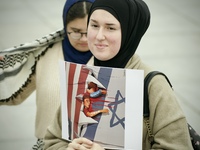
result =
[{"label": "white paper poster showing torn striped flag and blue star", "polygon": [[62,136],[142,149],[143,71],[62,61]]}]

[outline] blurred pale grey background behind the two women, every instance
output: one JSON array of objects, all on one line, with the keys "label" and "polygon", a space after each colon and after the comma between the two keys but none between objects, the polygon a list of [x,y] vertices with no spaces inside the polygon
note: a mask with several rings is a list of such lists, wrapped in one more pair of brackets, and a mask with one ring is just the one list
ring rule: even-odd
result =
[{"label": "blurred pale grey background behind the two women", "polygon": [[[145,2],[151,11],[151,25],[137,53],[168,75],[188,122],[200,133],[200,1]],[[64,3],[65,0],[0,0],[0,49],[62,28]],[[35,93],[18,106],[0,107],[0,150],[32,147],[36,141],[35,112]]]}]

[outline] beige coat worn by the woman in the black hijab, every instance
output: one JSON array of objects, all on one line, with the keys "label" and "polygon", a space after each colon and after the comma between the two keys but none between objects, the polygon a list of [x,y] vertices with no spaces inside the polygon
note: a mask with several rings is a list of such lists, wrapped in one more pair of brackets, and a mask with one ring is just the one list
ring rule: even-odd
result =
[{"label": "beige coat worn by the woman in the black hijab", "polygon": [[[126,68],[144,70],[145,75],[152,69],[134,55]],[[187,128],[187,121],[181,110],[174,91],[163,76],[156,76],[149,85],[150,126],[155,144],[150,147],[147,128],[143,124],[143,149],[191,150],[192,145]],[[68,143],[61,137],[60,107],[55,120],[48,127],[45,136],[45,149],[64,150]],[[130,137],[131,138],[131,137]]]}]

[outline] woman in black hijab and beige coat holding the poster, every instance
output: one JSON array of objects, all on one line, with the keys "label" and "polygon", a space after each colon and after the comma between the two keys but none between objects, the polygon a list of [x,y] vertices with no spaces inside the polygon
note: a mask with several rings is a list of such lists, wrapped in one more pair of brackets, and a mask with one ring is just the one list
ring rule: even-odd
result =
[{"label": "woman in black hijab and beige coat holding the poster", "polygon": [[[88,15],[87,34],[94,65],[139,69],[147,75],[152,69],[142,62],[135,51],[149,23],[150,12],[142,0],[96,0]],[[152,79],[149,99],[154,143],[150,144],[147,128],[143,124],[143,149],[192,149],[186,118],[163,76]],[[103,149],[86,138],[76,138],[70,144],[62,140],[60,118],[58,110],[55,121],[47,129],[46,149]]]}]

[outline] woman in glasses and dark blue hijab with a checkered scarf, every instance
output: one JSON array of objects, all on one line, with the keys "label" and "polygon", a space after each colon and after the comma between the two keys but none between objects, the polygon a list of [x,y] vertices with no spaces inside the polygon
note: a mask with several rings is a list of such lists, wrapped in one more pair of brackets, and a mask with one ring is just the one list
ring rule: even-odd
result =
[{"label": "woman in glasses and dark blue hijab with a checkered scarf", "polygon": [[[44,145],[42,140],[46,128],[60,104],[59,60],[86,64],[92,56],[86,38],[87,15],[92,2],[93,0],[67,0],[63,9],[62,31],[42,38],[43,41],[35,41],[29,45],[25,44],[14,48],[12,49],[13,53],[8,51],[9,55],[4,58],[0,57],[2,59],[0,63],[0,85],[4,87],[0,90],[1,105],[20,104],[36,90],[35,136],[38,141],[33,149],[41,148]],[[47,41],[44,42],[44,40]],[[16,54],[16,51],[20,50],[22,52]],[[5,51],[3,52],[6,54]],[[8,61],[20,62],[21,64],[19,68],[13,69],[13,72],[19,70],[17,75],[12,76],[13,78],[18,76],[23,78],[22,81],[16,79],[18,81],[16,84],[19,84],[19,86],[14,90],[11,90],[12,87],[10,87],[10,85],[13,85],[13,80],[12,84],[7,81],[10,77],[8,71],[12,68],[8,64],[15,63],[7,63]],[[25,70],[26,68],[29,68],[28,71]],[[26,75],[24,75],[25,71],[27,72]],[[8,90],[6,90],[6,86],[9,86]],[[3,94],[8,91],[13,91],[14,94],[9,93],[4,96]]]}]

